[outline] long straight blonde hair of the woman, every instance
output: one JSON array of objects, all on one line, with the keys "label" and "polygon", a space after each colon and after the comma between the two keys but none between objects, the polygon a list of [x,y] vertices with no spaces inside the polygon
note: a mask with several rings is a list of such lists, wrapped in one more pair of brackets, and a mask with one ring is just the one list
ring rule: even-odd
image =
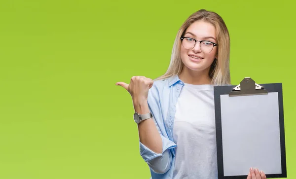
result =
[{"label": "long straight blonde hair of the woman", "polygon": [[227,27],[220,15],[215,12],[207,11],[205,9],[198,10],[190,15],[183,23],[178,31],[173,45],[170,65],[167,71],[158,79],[168,78],[170,76],[179,75],[184,64],[181,60],[181,36],[184,35],[187,28],[194,22],[203,20],[204,22],[211,23],[216,28],[217,42],[218,42],[218,59],[215,59],[211,65],[209,76],[212,78],[214,85],[227,85],[230,84],[229,72],[229,54],[230,54],[230,39]]}]

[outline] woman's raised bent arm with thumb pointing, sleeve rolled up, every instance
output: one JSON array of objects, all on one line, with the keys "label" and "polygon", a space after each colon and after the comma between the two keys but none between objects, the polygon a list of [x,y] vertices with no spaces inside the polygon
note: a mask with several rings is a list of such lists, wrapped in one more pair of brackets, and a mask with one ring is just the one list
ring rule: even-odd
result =
[{"label": "woman's raised bent arm with thumb pointing, sleeve rolled up", "polygon": [[152,113],[152,118],[138,125],[140,154],[152,171],[158,174],[165,173],[172,163],[170,149],[177,145],[163,135],[166,131],[159,93],[153,85],[153,80],[145,76],[133,76],[130,84],[117,82],[116,85],[124,87],[131,94],[136,112]]}]

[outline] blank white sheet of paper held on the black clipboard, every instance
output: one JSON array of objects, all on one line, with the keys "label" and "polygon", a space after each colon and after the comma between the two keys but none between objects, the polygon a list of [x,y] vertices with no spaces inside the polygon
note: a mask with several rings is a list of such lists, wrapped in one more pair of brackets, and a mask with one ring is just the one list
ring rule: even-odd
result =
[{"label": "blank white sheet of paper held on the black clipboard", "polygon": [[224,176],[281,174],[278,93],[221,95],[221,117]]}]

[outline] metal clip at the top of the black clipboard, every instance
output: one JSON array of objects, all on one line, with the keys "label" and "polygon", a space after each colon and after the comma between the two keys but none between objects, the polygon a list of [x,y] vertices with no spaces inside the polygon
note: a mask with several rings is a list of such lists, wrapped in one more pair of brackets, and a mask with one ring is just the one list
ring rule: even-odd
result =
[{"label": "metal clip at the top of the black clipboard", "polygon": [[266,95],[267,90],[263,86],[255,83],[250,77],[245,77],[239,85],[229,92],[229,96],[248,96],[248,95]]}]

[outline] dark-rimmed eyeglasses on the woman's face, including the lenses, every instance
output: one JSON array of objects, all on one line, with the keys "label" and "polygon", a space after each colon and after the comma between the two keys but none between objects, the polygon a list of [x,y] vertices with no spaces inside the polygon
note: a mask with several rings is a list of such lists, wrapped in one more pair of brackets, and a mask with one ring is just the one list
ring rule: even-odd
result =
[{"label": "dark-rimmed eyeglasses on the woman's face, including the lenses", "polygon": [[190,37],[181,37],[182,40],[182,45],[185,49],[192,49],[195,47],[196,42],[200,42],[200,50],[204,53],[211,53],[213,50],[214,46],[217,46],[218,44],[207,41],[207,40],[195,40]]}]

